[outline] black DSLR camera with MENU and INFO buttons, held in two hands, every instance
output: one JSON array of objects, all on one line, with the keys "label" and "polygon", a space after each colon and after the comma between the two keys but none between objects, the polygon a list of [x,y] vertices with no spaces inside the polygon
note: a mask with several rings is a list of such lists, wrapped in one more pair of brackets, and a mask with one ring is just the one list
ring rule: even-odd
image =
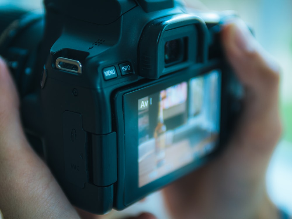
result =
[{"label": "black DSLR camera with MENU and INFO buttons, held in two hands", "polygon": [[124,209],[220,152],[241,108],[220,46],[230,15],[173,0],[44,4],[1,12],[0,52],[27,137],[72,204]]}]

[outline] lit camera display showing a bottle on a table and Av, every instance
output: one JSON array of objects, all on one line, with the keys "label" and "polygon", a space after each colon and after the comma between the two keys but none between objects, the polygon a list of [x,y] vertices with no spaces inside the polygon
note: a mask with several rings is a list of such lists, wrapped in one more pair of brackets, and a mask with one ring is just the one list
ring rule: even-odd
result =
[{"label": "lit camera display showing a bottle on a table and Av", "polygon": [[139,187],[215,149],[220,83],[220,72],[212,71],[138,99]]}]

